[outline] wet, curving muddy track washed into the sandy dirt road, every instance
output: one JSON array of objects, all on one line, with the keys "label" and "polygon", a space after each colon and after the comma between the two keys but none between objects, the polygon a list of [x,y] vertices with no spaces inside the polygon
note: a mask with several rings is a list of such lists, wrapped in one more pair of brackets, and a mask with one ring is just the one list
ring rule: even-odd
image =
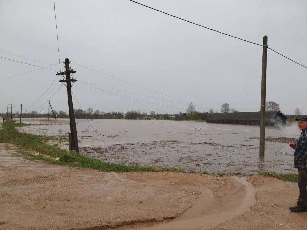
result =
[{"label": "wet, curving muddy track washed into the sandy dirt road", "polygon": [[[165,186],[165,187],[181,187],[178,185],[161,185],[137,182],[134,180],[128,180],[119,176],[119,174],[112,173],[115,178],[126,182],[144,184],[150,186]],[[179,178],[177,178],[179,179]],[[188,178],[181,176],[182,181],[187,181]],[[231,190],[220,199],[216,201],[213,197],[212,191],[207,189],[199,180],[189,181],[191,187],[198,187],[201,191],[198,199],[194,205],[185,210],[179,217],[169,218],[166,217],[163,223],[153,220],[138,221],[135,223],[144,223],[139,226],[131,226],[126,224],[126,227],[120,229],[138,229],[138,230],[198,230],[209,229],[216,227],[217,225],[237,217],[240,214],[249,210],[249,208],[255,204],[256,190],[249,184],[246,178],[232,177],[229,181]],[[186,186],[185,186],[186,187]],[[216,204],[216,203],[219,204]],[[217,206],[212,208],[212,206]],[[168,221],[167,221],[168,220]],[[151,222],[151,223],[148,223]],[[130,225],[130,226],[127,226]]]}]

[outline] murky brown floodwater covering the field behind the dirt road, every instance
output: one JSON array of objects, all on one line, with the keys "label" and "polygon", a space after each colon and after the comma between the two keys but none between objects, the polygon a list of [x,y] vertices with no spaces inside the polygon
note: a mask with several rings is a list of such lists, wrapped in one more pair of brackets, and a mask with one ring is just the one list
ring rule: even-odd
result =
[{"label": "murky brown floodwater covering the field behind the dirt road", "polygon": [[[59,125],[31,125],[22,131],[62,136],[70,132],[69,124],[63,124],[66,121],[69,122],[61,119]],[[25,122],[31,123],[29,118]],[[300,135],[296,124],[266,127],[265,157],[259,158],[259,126],[163,120],[91,119],[89,122],[95,131],[86,119],[76,119],[80,153],[102,161],[180,167],[187,172],[296,172],[294,150],[288,146],[289,141]],[[67,142],[61,148],[67,149]]]}]

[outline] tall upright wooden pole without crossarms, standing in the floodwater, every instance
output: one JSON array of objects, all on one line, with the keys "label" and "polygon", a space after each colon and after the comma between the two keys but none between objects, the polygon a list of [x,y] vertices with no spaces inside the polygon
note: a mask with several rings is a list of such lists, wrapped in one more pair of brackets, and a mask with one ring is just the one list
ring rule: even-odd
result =
[{"label": "tall upright wooden pole without crossarms, standing in the floodwater", "polygon": [[265,129],[266,129],[266,59],[268,37],[263,37],[262,47],[262,75],[261,75],[261,101],[260,101],[260,139],[259,139],[259,156],[264,156]]}]

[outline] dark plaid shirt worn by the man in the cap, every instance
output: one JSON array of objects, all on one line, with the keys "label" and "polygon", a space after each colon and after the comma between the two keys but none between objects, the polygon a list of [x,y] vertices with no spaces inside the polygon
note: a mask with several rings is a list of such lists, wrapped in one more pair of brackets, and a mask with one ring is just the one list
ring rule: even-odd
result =
[{"label": "dark plaid shirt worn by the man in the cap", "polygon": [[301,132],[294,149],[294,168],[307,170],[307,129]]}]

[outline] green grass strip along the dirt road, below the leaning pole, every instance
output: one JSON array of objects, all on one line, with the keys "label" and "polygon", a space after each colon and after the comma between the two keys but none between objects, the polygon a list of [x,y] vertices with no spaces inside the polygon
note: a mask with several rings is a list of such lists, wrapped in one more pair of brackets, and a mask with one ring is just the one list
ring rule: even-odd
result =
[{"label": "green grass strip along the dirt road, below the leaning pole", "polygon": [[[52,137],[37,136],[29,133],[21,133],[15,127],[20,126],[14,121],[7,119],[2,123],[0,130],[0,143],[15,144],[19,147],[21,154],[29,156],[32,160],[44,160],[56,165],[69,165],[72,167],[91,168],[99,171],[114,172],[185,172],[183,169],[152,166],[123,165],[109,162],[101,162],[99,159],[93,159],[88,156],[69,152],[54,145],[45,142],[52,140]],[[33,151],[39,153],[33,155]],[[56,160],[58,158],[58,160]]]}]

